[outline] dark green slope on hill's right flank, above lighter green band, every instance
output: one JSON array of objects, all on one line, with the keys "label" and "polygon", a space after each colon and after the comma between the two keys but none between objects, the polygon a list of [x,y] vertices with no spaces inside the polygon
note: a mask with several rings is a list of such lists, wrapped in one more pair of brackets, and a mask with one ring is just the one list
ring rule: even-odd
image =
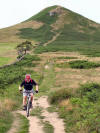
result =
[{"label": "dark green slope on hill's right flank, above lighter green band", "polygon": [[[83,21],[82,21],[83,22]],[[76,25],[80,25],[79,22],[76,22]],[[86,28],[86,29],[85,29]],[[93,34],[90,34],[90,29],[88,27],[83,26],[83,32],[80,32],[78,29],[75,29],[75,23],[73,24],[66,24],[62,29],[62,32],[58,38],[58,41],[100,41],[100,29],[96,29]]]}]

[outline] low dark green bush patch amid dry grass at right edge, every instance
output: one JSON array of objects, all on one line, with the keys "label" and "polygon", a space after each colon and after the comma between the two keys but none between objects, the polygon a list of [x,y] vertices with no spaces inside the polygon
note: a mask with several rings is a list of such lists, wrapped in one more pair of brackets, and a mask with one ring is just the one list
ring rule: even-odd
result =
[{"label": "low dark green bush patch amid dry grass at right edge", "polygon": [[76,61],[70,61],[69,66],[71,68],[76,68],[76,69],[89,69],[89,68],[100,67],[100,64],[95,62],[89,62],[86,60],[76,60]]}]

